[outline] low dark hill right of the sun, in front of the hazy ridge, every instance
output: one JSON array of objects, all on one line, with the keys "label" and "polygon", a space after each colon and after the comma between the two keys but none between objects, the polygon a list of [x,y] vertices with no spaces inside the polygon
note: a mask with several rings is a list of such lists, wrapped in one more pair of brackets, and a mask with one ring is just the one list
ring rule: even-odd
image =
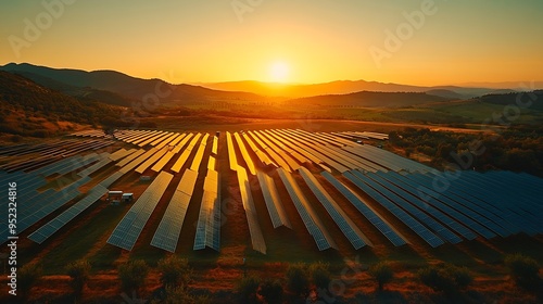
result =
[{"label": "low dark hill right of the sun, in front of the hazy ridge", "polygon": [[312,106],[353,107],[406,107],[426,103],[444,102],[451,99],[425,92],[372,92],[362,91],[350,94],[328,94],[286,101],[287,104]]}]

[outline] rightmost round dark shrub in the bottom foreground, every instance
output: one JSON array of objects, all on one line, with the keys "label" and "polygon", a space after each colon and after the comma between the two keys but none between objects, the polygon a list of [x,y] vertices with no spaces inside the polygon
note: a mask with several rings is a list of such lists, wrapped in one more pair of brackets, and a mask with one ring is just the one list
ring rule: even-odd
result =
[{"label": "rightmost round dark shrub in the bottom foreground", "polygon": [[512,254],[505,257],[505,265],[515,280],[515,283],[523,289],[536,288],[539,281],[539,264],[535,259],[522,254]]}]

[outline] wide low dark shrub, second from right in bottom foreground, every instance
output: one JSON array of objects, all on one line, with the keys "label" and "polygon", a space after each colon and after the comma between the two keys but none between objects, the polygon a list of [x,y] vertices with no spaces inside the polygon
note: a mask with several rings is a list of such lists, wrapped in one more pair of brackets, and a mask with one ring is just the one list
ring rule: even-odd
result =
[{"label": "wide low dark shrub, second from right in bottom foreground", "polygon": [[422,268],[418,271],[418,277],[424,284],[445,294],[453,294],[459,289],[465,289],[473,280],[466,267],[460,268],[454,265]]}]

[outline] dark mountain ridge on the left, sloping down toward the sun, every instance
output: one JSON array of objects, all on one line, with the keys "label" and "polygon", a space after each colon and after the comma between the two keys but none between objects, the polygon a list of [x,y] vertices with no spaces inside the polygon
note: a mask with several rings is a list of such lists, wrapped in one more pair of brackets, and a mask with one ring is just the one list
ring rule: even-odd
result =
[{"label": "dark mountain ridge on the left, sloping down toward the sun", "polygon": [[[115,71],[93,71],[51,68],[27,63],[10,63],[1,71],[18,73],[40,83],[45,79],[54,86],[91,88],[111,91],[128,99],[141,101],[148,96],[157,97],[164,103],[176,105],[199,104],[210,101],[238,102],[243,100],[266,101],[267,98],[248,92],[218,91],[191,85],[172,85],[161,79],[141,79]],[[64,89],[61,88],[61,91]],[[97,92],[94,92],[97,93]]]}]

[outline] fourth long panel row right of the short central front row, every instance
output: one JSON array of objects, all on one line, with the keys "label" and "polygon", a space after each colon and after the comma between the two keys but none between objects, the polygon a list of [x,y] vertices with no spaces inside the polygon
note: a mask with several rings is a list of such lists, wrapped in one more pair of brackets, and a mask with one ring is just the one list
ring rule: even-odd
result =
[{"label": "fourth long panel row right of the short central front row", "polygon": [[362,179],[358,179],[350,172],[343,173],[343,176],[351,180],[356,187],[362,191],[366,192],[369,197],[376,200],[379,204],[390,211],[394,216],[402,220],[407,227],[409,227],[415,233],[417,233],[422,240],[425,240],[432,248],[442,245],[444,242],[432,231],[428,230],[422,224],[413,218],[409,214],[399,207],[395,203],[387,199],[384,195],[374,190],[371,187],[367,186]]}]

